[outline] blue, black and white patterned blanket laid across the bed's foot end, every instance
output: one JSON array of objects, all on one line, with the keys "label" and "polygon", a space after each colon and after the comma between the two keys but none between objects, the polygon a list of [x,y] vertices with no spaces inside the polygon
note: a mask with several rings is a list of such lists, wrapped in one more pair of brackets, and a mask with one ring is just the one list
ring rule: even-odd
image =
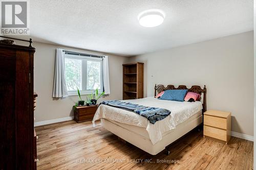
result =
[{"label": "blue, black and white patterned blanket laid across the bed's foot end", "polygon": [[146,117],[152,124],[155,124],[158,120],[162,120],[170,114],[170,111],[166,110],[166,109],[161,109],[161,108],[157,108],[157,107],[141,106],[141,105],[137,105],[137,104],[116,101],[116,100],[103,101],[100,104],[109,105],[112,107],[116,107],[119,109],[124,109],[124,110],[128,110],[128,111],[137,113],[141,116]]}]

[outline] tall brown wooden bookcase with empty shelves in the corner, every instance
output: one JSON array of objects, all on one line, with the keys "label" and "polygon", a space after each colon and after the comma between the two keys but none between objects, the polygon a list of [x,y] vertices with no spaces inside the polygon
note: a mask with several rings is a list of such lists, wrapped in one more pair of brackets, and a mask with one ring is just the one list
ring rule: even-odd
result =
[{"label": "tall brown wooden bookcase with empty shelves in the corner", "polygon": [[123,100],[143,98],[144,63],[123,64]]}]

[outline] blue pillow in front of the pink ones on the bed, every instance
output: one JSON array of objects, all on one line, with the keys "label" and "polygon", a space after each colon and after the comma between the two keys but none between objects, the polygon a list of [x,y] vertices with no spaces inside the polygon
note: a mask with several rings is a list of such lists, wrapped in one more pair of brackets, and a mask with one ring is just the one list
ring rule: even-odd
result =
[{"label": "blue pillow in front of the pink ones on the bed", "polygon": [[187,90],[165,90],[163,95],[159,99],[183,102],[186,93]]}]

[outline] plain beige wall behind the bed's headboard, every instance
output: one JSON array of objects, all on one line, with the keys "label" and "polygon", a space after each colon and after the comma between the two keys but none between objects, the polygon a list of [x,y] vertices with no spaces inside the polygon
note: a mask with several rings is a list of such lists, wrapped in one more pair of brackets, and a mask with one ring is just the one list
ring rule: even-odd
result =
[{"label": "plain beige wall behind the bed's headboard", "polygon": [[[163,42],[164,43],[164,42]],[[144,62],[144,95],[155,84],[206,85],[207,109],[230,111],[232,131],[253,136],[253,32],[130,58]]]}]

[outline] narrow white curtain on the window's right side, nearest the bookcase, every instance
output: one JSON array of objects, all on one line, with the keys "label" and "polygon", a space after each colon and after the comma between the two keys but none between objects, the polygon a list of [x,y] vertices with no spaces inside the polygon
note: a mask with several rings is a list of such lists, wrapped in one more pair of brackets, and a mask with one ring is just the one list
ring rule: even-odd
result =
[{"label": "narrow white curtain on the window's right side, nearest the bookcase", "polygon": [[103,88],[105,94],[110,94],[109,57],[103,57]]}]

